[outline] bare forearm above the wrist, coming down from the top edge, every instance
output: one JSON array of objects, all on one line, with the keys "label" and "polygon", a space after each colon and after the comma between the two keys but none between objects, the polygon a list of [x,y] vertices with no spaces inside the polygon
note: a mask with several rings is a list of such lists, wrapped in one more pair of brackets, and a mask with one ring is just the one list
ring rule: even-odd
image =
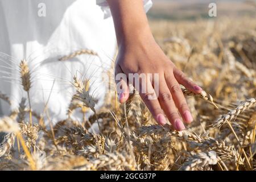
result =
[{"label": "bare forearm above the wrist, coming down from the top edge", "polygon": [[134,42],[152,37],[142,0],[107,0],[113,16],[117,42]]}]

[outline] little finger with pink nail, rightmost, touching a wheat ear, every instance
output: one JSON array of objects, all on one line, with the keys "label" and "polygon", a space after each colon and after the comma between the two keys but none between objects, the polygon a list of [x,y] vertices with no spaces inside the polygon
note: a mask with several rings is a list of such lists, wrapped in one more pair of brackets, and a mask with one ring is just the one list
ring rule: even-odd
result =
[{"label": "little finger with pink nail, rightmost, touching a wheat ear", "polygon": [[190,78],[188,78],[185,73],[181,72],[179,69],[174,69],[174,76],[176,80],[185,88],[190,90],[193,93],[201,93],[203,89],[196,85]]}]

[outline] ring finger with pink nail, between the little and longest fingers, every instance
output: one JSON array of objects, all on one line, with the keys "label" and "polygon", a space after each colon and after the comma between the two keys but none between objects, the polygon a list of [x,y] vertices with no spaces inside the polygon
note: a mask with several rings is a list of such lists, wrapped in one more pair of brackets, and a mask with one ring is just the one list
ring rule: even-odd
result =
[{"label": "ring finger with pink nail, between the little and longest fingers", "polygon": [[176,81],[174,75],[169,73],[165,75],[166,83],[168,88],[171,90],[172,97],[174,98],[175,105],[179,110],[183,121],[191,123],[193,121],[192,115],[189,111],[187,101],[185,100],[184,94],[180,88],[179,83]]}]

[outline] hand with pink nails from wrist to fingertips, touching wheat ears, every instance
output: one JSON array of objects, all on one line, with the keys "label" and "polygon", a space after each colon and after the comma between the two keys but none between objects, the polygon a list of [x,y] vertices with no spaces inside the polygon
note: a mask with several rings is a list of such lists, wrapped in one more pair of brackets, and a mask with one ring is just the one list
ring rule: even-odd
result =
[{"label": "hand with pink nails from wrist to fingertips, touching wheat ears", "polygon": [[[152,82],[149,80],[147,80],[147,84],[150,87],[148,87],[149,90],[146,93],[141,93],[142,88],[140,91],[136,88],[155,120],[160,125],[166,124],[165,113],[172,126],[178,131],[185,129],[180,115],[185,123],[192,122],[192,115],[179,84],[184,85],[187,89],[195,93],[200,93],[202,89],[175,67],[174,63],[164,55],[162,49],[160,49],[150,34],[148,36],[147,34],[143,34],[143,38],[140,36],[131,42],[122,42],[119,44],[115,75],[118,73],[125,73],[125,75],[129,73],[159,73],[158,99],[150,99],[154,88]],[[117,82],[119,81],[117,80]],[[123,88],[123,92],[119,93],[118,96],[121,103],[126,102],[129,97],[129,86],[127,82],[129,80],[121,80],[119,82]],[[143,87],[143,84],[140,86]]]}]

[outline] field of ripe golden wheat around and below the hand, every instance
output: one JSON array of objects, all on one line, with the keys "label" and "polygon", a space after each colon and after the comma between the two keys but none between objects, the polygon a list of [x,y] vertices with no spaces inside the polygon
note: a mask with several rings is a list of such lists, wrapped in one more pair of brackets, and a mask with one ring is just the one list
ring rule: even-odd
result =
[{"label": "field of ripe golden wheat around and below the hand", "polygon": [[[6,133],[0,170],[255,170],[255,19],[150,24],[166,55],[204,89],[193,94],[182,88],[194,122],[181,132],[156,125],[137,93],[126,104],[109,94],[96,110],[89,80],[74,76],[67,119],[47,127],[44,113],[30,105],[32,68],[22,60],[20,81],[27,97],[0,118],[0,132]],[[61,60],[79,53],[97,55],[82,51]],[[5,93],[0,98],[11,104]],[[71,117],[75,110],[94,114],[78,122]],[[100,132],[90,130],[94,123]]]}]

